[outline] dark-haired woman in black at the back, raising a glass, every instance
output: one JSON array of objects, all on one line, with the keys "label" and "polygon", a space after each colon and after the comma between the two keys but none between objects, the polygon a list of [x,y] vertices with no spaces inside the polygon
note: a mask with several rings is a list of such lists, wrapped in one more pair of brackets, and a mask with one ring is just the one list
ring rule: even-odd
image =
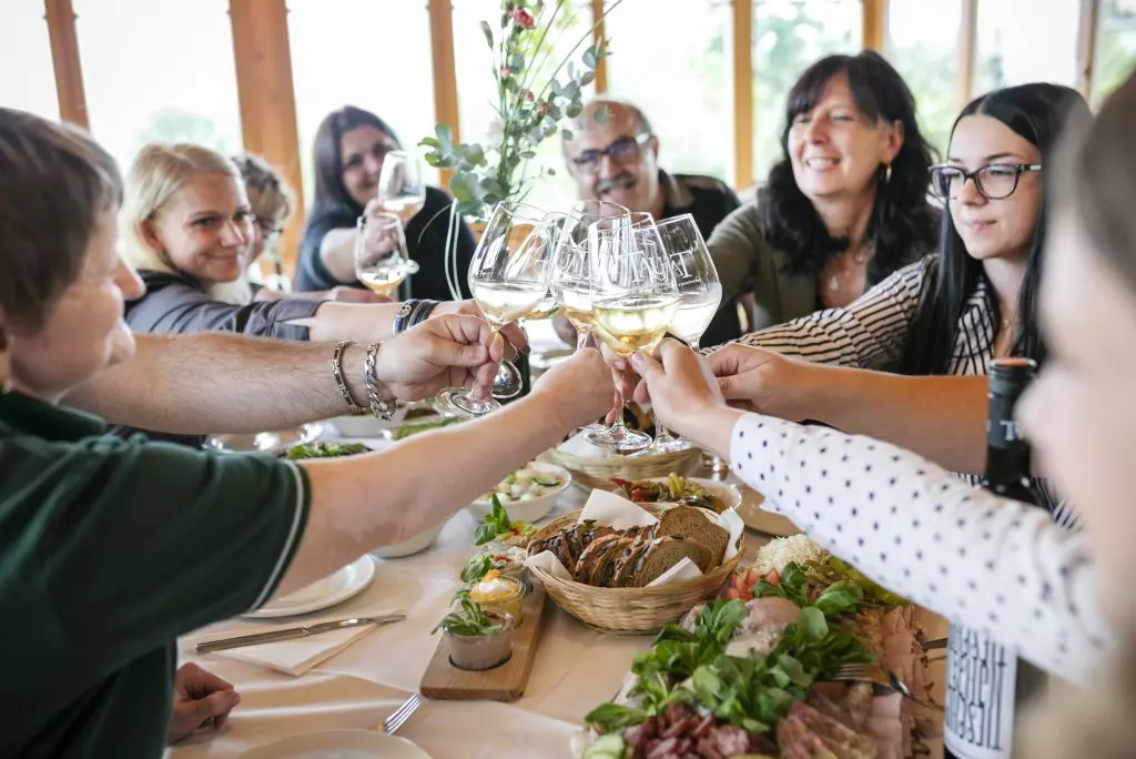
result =
[{"label": "dark-haired woman in black at the back, raising a glass", "polygon": [[[336,285],[362,285],[354,275],[356,220],[378,194],[383,159],[401,143],[382,118],[361,108],[345,106],[320,123],[314,148],[316,197],[300,243],[295,285],[298,290],[329,290]],[[450,197],[426,187],[426,202],[406,224],[407,249],[419,270],[410,278],[410,295],[452,300],[445,277],[445,243]],[[465,273],[474,258],[473,232],[465,223],[457,232],[459,286],[469,298]]]}]

